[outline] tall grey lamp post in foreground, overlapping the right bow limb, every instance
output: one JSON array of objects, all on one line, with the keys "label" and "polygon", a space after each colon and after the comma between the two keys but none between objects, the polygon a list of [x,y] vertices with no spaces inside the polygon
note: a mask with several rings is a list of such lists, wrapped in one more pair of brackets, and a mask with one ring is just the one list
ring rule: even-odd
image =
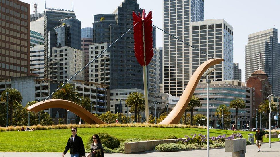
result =
[{"label": "tall grey lamp post in foreground, overlapping the right bow limb", "polygon": [[202,75],[203,77],[206,77],[206,83],[207,83],[207,157],[210,156],[210,144],[209,144],[209,87],[211,83],[211,79],[208,79],[208,74],[210,74],[212,71],[216,70],[215,68],[207,69],[207,71]]}]

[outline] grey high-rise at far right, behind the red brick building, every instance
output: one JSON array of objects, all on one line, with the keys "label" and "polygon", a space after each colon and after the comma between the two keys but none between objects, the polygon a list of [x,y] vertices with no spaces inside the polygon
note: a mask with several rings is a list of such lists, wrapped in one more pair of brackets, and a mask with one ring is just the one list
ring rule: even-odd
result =
[{"label": "grey high-rise at far right, behind the red brick building", "polygon": [[272,93],[280,95],[280,43],[276,28],[249,34],[245,46],[245,79],[259,68],[269,77]]}]

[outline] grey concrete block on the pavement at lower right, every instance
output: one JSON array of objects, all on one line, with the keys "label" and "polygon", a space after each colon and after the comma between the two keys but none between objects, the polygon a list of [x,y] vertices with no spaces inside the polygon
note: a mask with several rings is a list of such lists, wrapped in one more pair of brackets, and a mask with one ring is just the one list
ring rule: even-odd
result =
[{"label": "grey concrete block on the pavement at lower right", "polygon": [[225,140],[225,152],[232,152],[234,157],[245,157],[246,139]]}]

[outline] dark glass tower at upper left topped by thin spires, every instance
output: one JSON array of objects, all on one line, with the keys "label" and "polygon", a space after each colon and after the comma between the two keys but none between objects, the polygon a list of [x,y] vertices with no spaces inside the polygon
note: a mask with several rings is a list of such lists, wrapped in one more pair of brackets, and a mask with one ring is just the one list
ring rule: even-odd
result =
[{"label": "dark glass tower at upper left topped by thin spires", "polygon": [[[44,64],[45,64],[45,77],[48,77],[48,59],[50,56],[52,56],[52,46],[56,45],[55,40],[51,40],[51,37],[55,37],[55,31],[54,27],[57,27],[61,25],[60,20],[66,19],[66,18],[75,18],[76,15],[74,11],[72,10],[63,10],[63,9],[50,9],[46,8],[44,11],[44,49],[45,49],[45,55],[44,55]],[[71,20],[70,20],[71,21]],[[63,23],[62,23],[63,24]],[[64,25],[65,26],[65,25]],[[67,27],[67,26],[65,26]],[[59,28],[57,28],[59,29]],[[61,28],[63,29],[63,28]],[[67,29],[67,28],[65,28]],[[62,31],[61,31],[62,32]],[[78,35],[79,34],[79,35]],[[63,34],[61,34],[63,35]],[[77,32],[77,42],[79,43],[79,47],[77,49],[80,49],[80,40],[81,40],[81,26],[79,27],[79,32]],[[72,35],[71,35],[72,36]]]}]

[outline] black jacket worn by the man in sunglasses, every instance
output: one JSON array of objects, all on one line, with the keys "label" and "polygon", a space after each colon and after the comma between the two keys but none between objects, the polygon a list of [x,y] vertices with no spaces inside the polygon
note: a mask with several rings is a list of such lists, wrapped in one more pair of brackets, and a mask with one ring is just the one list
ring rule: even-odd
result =
[{"label": "black jacket worn by the man in sunglasses", "polygon": [[65,147],[63,154],[66,154],[70,148],[70,154],[79,153],[80,155],[85,156],[85,146],[83,145],[82,138],[76,134],[74,141],[73,141],[72,137],[73,137],[73,135],[71,135],[71,137],[68,139],[68,142],[67,142],[67,145]]}]

